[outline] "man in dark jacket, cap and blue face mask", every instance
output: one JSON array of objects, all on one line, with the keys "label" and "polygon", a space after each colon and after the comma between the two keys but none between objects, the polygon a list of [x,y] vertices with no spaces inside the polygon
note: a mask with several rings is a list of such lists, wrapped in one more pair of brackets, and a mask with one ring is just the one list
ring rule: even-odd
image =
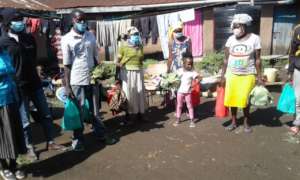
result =
[{"label": "man in dark jacket, cap and blue face mask", "polygon": [[64,147],[55,144],[53,141],[53,119],[35,66],[35,40],[29,34],[24,33],[25,24],[20,12],[14,9],[5,9],[2,11],[2,16],[3,34],[0,38],[0,47],[8,51],[16,70],[16,84],[20,96],[19,112],[29,154],[34,159],[36,158],[32,145],[32,131],[29,121],[29,101],[32,101],[38,110],[48,150],[62,150]]}]

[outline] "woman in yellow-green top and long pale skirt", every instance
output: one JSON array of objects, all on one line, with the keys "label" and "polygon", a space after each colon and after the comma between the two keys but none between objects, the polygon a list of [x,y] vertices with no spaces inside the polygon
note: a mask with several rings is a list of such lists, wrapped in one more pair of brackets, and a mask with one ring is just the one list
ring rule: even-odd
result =
[{"label": "woman in yellow-green top and long pale skirt", "polygon": [[145,87],[143,60],[144,52],[140,33],[136,27],[127,30],[128,39],[122,43],[118,52],[118,63],[120,67],[120,80],[122,88],[128,99],[129,114],[136,119],[145,120]]}]

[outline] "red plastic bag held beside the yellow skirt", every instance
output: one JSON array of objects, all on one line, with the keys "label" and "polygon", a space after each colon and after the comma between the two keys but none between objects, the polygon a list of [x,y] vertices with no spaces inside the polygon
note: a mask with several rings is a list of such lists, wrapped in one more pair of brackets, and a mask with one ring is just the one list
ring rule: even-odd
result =
[{"label": "red plastic bag held beside the yellow skirt", "polygon": [[216,98],[216,107],[215,107],[215,116],[219,118],[228,116],[228,108],[224,106],[225,99],[225,88],[217,87],[217,98]]}]

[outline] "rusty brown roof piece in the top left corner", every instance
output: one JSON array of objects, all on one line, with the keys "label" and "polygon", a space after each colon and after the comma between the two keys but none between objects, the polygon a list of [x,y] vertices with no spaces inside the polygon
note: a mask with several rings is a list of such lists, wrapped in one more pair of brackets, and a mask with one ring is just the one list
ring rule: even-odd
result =
[{"label": "rusty brown roof piece in the top left corner", "polygon": [[29,9],[36,11],[54,11],[40,0],[0,0],[0,8]]}]

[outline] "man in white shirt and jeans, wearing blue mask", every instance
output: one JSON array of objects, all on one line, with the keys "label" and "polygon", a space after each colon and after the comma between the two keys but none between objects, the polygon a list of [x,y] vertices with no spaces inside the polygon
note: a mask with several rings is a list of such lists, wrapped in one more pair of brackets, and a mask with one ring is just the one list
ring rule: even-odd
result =
[{"label": "man in white shirt and jeans, wearing blue mask", "polygon": [[[73,27],[61,40],[66,95],[81,107],[85,99],[88,100],[89,107],[91,107],[90,113],[94,115],[92,124],[95,136],[106,144],[113,144],[115,140],[107,136],[104,124],[93,111],[93,86],[90,83],[90,72],[98,61],[96,39],[91,32],[87,31],[86,16],[82,11],[74,10],[71,17]],[[84,150],[83,130],[80,128],[73,132],[72,148],[74,151]]]}]

